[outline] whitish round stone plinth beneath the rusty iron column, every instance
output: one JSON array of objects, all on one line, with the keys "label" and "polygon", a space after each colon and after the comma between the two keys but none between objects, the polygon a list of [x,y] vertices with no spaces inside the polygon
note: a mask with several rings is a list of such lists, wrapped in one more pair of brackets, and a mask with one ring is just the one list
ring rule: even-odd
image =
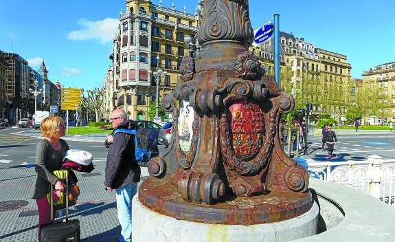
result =
[{"label": "whitish round stone plinth beneath the rusty iron column", "polygon": [[149,210],[137,196],[132,203],[132,240],[166,242],[290,241],[317,233],[319,208],[293,219],[266,224],[225,225],[174,219]]}]

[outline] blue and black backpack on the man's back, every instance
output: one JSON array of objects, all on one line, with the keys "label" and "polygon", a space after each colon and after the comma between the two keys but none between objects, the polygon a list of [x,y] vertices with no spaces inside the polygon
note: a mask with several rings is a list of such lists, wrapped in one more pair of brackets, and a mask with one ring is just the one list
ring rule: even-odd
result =
[{"label": "blue and black backpack on the man's back", "polygon": [[113,135],[120,132],[135,137],[135,160],[140,166],[148,166],[149,160],[159,155],[157,137],[152,129],[116,129]]}]

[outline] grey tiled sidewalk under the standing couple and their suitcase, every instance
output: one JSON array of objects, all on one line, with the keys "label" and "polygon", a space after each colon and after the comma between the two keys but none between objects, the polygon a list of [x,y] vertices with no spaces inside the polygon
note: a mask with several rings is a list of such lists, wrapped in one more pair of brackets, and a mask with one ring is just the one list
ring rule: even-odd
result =
[{"label": "grey tiled sidewalk under the standing couple and their suitcase", "polygon": [[[93,164],[95,170],[90,174],[76,172],[81,193],[76,206],[69,209],[69,219],[80,219],[82,241],[117,241],[121,229],[115,192],[104,190],[105,162],[93,160]],[[142,168],[143,179],[147,176],[147,168]],[[3,168],[0,177],[0,241],[36,241],[37,206],[29,197],[36,177],[34,167]]]}]

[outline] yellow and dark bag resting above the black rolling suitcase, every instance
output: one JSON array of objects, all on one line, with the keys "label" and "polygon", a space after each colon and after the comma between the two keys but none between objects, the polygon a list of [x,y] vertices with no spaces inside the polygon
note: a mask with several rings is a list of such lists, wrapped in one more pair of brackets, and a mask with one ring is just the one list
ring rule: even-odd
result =
[{"label": "yellow and dark bag resting above the black rolling suitcase", "polygon": [[[59,178],[60,181],[67,184],[67,189],[60,191],[54,189],[54,185],[52,186],[52,196],[54,210],[62,210],[66,208],[66,199],[69,201],[69,206],[74,206],[77,203],[77,198],[80,195],[80,188],[71,182],[67,182],[69,179],[69,171],[68,170],[55,170],[54,175]],[[48,203],[51,204],[51,189],[49,189],[47,193]]]}]

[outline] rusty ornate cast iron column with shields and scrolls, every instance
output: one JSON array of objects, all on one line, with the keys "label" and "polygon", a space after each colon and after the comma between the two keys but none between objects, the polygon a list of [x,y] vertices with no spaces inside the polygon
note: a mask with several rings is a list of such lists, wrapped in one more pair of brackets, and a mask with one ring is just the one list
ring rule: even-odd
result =
[{"label": "rusty ornate cast iron column with shields and scrolls", "polygon": [[162,106],[174,113],[171,144],[150,160],[139,201],[204,223],[256,224],[303,214],[313,202],[306,170],[282,150],[280,118],[294,108],[249,52],[247,0],[205,0],[203,51],[183,58]]}]

